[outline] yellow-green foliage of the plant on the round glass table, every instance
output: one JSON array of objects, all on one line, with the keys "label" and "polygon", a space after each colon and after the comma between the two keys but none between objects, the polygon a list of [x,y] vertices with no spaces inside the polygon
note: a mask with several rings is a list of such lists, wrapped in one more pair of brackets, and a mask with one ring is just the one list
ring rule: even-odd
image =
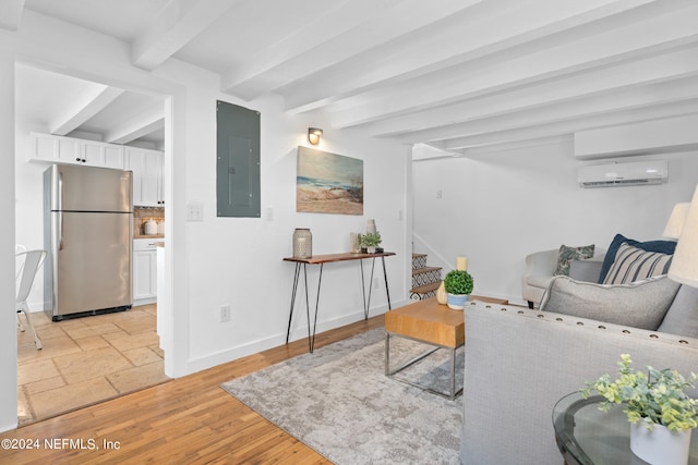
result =
[{"label": "yellow-green foliage of the plant on the round glass table", "polygon": [[654,425],[664,425],[671,431],[685,431],[698,426],[698,400],[690,399],[684,389],[695,388],[698,376],[690,374],[686,380],[678,371],[665,368],[658,370],[647,367],[647,374],[635,371],[628,354],[621,355],[618,376],[603,375],[594,382],[586,381],[581,390],[586,399],[591,391],[605,397],[599,405],[602,412],[609,412],[612,404],[625,404],[623,412],[633,424],[643,421],[647,429]]}]

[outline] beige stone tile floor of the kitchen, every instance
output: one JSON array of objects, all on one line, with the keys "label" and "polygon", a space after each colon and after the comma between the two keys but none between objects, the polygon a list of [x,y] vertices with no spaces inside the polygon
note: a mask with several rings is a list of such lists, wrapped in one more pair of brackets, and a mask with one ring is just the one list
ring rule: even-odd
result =
[{"label": "beige stone tile floor of the kitchen", "polygon": [[[24,321],[24,315],[20,318]],[[20,425],[154,386],[165,376],[156,306],[53,322],[31,314],[44,348],[17,329]]]}]

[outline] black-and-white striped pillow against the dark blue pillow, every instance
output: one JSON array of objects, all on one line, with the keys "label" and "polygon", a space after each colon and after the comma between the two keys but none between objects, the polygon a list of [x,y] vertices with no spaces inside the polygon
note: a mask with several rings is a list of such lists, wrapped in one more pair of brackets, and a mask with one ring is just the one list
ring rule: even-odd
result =
[{"label": "black-and-white striped pillow against the dark blue pillow", "polygon": [[645,252],[626,243],[621,244],[604,284],[625,284],[647,278],[666,274],[673,255]]}]

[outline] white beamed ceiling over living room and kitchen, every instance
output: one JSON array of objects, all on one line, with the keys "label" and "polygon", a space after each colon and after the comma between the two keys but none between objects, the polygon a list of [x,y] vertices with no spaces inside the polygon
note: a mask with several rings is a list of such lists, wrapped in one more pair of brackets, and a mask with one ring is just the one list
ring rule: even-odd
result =
[{"label": "white beamed ceiling over living room and kitchen", "polygon": [[[459,154],[698,113],[695,0],[5,0],[0,17],[22,4],[130,44],[140,68],[186,61],[243,100]],[[152,97],[17,73],[17,119],[163,137]]]}]

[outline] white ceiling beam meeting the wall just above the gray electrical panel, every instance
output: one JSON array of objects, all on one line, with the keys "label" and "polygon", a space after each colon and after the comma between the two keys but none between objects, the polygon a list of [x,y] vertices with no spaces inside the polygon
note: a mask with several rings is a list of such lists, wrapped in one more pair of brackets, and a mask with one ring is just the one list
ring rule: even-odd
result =
[{"label": "white ceiling beam meeting the wall just above the gray electrical panel", "polygon": [[[337,3],[324,14],[310,15],[296,32],[238,63],[221,78],[221,89],[252,99],[362,52],[380,48],[482,0]],[[600,1],[600,0],[595,0]],[[399,17],[400,21],[394,21]]]}]

